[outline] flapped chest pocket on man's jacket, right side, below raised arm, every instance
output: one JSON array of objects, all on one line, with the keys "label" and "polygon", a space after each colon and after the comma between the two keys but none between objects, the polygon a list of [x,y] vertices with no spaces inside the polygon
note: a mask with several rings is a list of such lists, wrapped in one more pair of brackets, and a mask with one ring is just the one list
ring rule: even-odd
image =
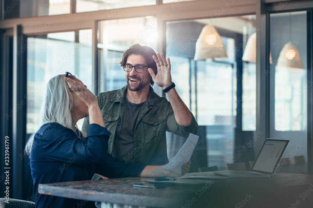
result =
[{"label": "flapped chest pocket on man's jacket, right side, below raised arm", "polygon": [[143,142],[146,144],[158,143],[165,131],[166,114],[147,115],[143,120]]}]

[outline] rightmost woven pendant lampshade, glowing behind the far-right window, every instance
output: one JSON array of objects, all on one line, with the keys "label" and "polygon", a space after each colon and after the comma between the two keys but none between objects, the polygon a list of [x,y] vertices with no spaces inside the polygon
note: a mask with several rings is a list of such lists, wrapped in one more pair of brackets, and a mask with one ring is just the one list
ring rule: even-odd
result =
[{"label": "rightmost woven pendant lampshade, glowing behind the far-right window", "polygon": [[277,66],[303,69],[299,51],[294,44],[291,42],[285,44],[283,49],[280,51]]}]

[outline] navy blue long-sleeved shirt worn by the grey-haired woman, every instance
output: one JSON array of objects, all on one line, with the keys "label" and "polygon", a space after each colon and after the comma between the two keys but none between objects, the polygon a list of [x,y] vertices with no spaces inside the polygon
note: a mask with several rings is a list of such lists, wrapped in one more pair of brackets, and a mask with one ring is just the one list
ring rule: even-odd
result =
[{"label": "navy blue long-sleeved shirt worn by the grey-haired woman", "polygon": [[[77,207],[82,200],[38,194],[38,184],[86,181],[94,173],[105,177],[139,177],[143,163],[125,162],[107,154],[110,132],[90,124],[86,140],[59,123],[46,123],[35,134],[30,154],[36,207]],[[83,207],[95,207],[92,199]]]}]

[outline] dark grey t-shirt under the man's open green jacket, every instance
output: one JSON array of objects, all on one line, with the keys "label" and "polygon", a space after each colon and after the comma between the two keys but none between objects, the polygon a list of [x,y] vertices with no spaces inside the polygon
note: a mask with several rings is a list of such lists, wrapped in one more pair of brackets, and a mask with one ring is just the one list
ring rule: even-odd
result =
[{"label": "dark grey t-shirt under the man's open green jacket", "polygon": [[120,160],[132,162],[134,160],[134,130],[136,119],[142,105],[145,103],[134,104],[127,100],[126,96],[124,115],[121,123],[121,132],[117,140],[116,157]]}]

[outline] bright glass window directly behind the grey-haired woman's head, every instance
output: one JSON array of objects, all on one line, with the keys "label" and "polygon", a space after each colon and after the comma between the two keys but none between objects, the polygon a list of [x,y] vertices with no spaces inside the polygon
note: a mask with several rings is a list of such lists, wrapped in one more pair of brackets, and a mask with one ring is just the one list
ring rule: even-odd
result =
[{"label": "bright glass window directly behind the grey-haired woman's head", "polygon": [[[82,80],[88,89],[93,89],[91,83],[91,33],[91,30],[80,30],[27,38],[26,131],[28,134],[38,128],[38,113],[49,79],[68,71]],[[79,38],[75,40],[77,35]],[[81,127],[82,121],[81,119],[78,122],[79,127]]]}]

